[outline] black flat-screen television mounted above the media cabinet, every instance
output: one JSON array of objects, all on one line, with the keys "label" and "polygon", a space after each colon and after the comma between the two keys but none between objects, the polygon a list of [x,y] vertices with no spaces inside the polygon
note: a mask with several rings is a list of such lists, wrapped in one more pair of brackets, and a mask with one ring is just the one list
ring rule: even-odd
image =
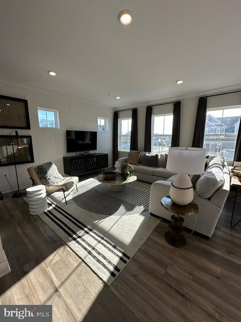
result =
[{"label": "black flat-screen television mounted above the media cabinet", "polygon": [[67,152],[80,152],[97,149],[97,132],[66,131]]}]

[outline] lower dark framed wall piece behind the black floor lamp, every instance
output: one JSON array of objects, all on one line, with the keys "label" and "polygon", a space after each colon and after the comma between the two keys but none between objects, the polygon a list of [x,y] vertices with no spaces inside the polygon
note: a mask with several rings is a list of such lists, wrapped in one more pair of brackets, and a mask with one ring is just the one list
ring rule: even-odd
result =
[{"label": "lower dark framed wall piece behind the black floor lamp", "polygon": [[0,167],[14,165],[14,154],[17,165],[34,163],[34,152],[31,135],[20,135],[21,148],[16,136],[13,136],[14,149],[10,135],[0,135]]}]

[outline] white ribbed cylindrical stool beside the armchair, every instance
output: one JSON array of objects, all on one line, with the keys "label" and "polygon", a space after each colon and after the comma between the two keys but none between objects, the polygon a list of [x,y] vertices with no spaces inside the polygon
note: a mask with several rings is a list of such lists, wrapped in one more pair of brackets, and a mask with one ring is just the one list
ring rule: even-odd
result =
[{"label": "white ribbed cylindrical stool beside the armchair", "polygon": [[26,189],[31,215],[39,215],[48,209],[46,189],[44,185]]}]

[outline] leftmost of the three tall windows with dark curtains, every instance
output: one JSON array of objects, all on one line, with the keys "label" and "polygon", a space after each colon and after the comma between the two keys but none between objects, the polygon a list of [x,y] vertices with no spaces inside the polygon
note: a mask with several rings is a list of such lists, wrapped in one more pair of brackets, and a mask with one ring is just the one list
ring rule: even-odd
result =
[{"label": "leftmost of the three tall windows with dark curtains", "polygon": [[119,119],[118,129],[118,150],[130,151],[131,147],[131,131],[132,131],[132,119]]}]

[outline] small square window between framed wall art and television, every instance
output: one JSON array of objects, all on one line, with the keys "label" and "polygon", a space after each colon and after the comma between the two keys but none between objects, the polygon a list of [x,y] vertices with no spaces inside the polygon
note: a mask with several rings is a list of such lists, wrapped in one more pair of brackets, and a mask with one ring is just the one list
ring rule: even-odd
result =
[{"label": "small square window between framed wall art and television", "polygon": [[56,110],[38,108],[39,127],[59,129],[59,112]]}]

